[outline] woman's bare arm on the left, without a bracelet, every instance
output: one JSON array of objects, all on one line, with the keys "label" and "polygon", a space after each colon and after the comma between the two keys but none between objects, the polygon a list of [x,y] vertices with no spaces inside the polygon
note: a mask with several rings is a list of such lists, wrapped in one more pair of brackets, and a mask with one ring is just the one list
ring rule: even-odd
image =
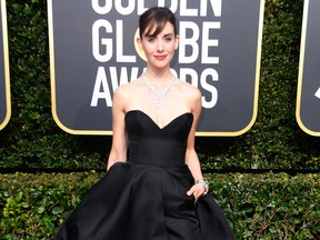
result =
[{"label": "woman's bare arm on the left, without a bracelet", "polygon": [[118,161],[127,161],[127,133],[124,126],[124,99],[123,88],[119,87],[114,91],[112,102],[112,146],[109,153],[107,171]]}]

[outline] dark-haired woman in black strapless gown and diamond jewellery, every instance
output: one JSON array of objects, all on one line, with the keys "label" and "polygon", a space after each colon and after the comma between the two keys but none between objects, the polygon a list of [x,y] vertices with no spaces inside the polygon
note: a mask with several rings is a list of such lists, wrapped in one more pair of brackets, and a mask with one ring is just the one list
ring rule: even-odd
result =
[{"label": "dark-haired woman in black strapless gown and diamond jewellery", "polygon": [[139,30],[147,70],[114,92],[108,172],[57,239],[234,239],[207,196],[194,150],[200,91],[170,71],[179,44],[174,14],[151,8],[140,17]]}]

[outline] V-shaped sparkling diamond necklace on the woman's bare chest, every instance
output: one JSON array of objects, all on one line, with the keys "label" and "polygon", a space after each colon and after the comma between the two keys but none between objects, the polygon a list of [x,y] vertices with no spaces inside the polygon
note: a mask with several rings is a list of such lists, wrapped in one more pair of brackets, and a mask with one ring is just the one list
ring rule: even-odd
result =
[{"label": "V-shaped sparkling diamond necklace on the woman's bare chest", "polygon": [[173,74],[170,83],[162,92],[157,92],[154,87],[144,78],[144,73],[142,74],[142,83],[147,87],[150,97],[154,101],[156,106],[158,108],[161,108],[163,106],[163,102],[166,101],[168,94],[173,90],[173,82],[176,80],[176,77]]}]

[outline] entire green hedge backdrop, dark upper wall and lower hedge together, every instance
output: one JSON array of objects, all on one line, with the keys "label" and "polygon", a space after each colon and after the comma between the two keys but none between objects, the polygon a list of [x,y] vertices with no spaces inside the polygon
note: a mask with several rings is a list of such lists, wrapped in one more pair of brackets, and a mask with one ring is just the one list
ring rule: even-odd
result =
[{"label": "entire green hedge backdrop, dark upper wall and lower hedge together", "polygon": [[[254,126],[240,137],[197,138],[203,170],[229,171],[206,178],[237,239],[320,239],[320,140],[294,116],[302,11],[303,0],[266,0]],[[68,134],[53,121],[47,1],[7,0],[7,12],[12,117],[0,132],[0,239],[52,239],[104,174],[111,137]],[[251,168],[257,174],[232,173]],[[36,173],[4,173],[12,170]]]}]

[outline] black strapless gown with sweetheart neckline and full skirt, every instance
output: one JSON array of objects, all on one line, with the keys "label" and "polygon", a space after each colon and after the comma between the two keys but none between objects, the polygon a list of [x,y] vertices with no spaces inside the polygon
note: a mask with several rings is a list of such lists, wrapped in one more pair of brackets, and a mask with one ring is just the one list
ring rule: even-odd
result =
[{"label": "black strapless gown with sweetheart neckline and full skirt", "polygon": [[184,163],[193,121],[183,113],[159,128],[139,110],[126,114],[128,162],[114,163],[59,229],[61,240],[234,239],[210,194],[194,206]]}]

